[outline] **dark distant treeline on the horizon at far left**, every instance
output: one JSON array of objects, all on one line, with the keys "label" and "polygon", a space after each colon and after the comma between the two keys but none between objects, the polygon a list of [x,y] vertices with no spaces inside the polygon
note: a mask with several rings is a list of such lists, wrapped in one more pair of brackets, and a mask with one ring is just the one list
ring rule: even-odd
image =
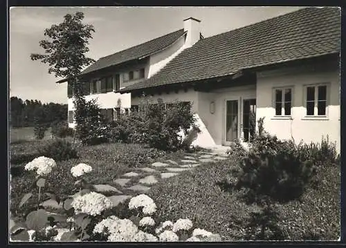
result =
[{"label": "dark distant treeline on the horizon at far left", "polygon": [[12,127],[34,126],[35,117],[40,117],[47,126],[53,122],[67,120],[67,104],[42,104],[37,100],[23,101],[18,97],[10,98],[10,125]]}]

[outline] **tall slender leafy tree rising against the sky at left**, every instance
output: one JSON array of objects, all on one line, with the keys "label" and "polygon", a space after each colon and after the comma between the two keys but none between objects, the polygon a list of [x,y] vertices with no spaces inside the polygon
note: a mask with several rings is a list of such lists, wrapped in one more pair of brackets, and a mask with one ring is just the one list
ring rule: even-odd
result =
[{"label": "tall slender leafy tree rising against the sky at left", "polygon": [[86,113],[86,101],[84,99],[84,86],[80,82],[79,76],[84,66],[89,66],[93,59],[86,57],[89,52],[87,45],[92,39],[92,32],[95,32],[92,25],[82,23],[84,14],[76,12],[75,15],[65,15],[64,21],[58,25],[52,25],[44,31],[48,39],[39,41],[39,46],[44,48],[44,55],[32,54],[32,60],[41,60],[48,64],[48,73],[54,73],[55,77],[65,77],[72,83],[73,104],[75,105],[75,115],[77,126],[76,131],[79,136],[85,133],[84,119],[82,115]]}]

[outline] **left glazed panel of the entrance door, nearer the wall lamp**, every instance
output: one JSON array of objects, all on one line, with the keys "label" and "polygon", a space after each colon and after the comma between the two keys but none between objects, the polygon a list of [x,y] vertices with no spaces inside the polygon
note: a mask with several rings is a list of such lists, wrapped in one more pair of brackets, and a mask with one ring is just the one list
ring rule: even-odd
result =
[{"label": "left glazed panel of the entrance door, nearer the wall lamp", "polygon": [[238,100],[226,102],[226,142],[238,138]]}]

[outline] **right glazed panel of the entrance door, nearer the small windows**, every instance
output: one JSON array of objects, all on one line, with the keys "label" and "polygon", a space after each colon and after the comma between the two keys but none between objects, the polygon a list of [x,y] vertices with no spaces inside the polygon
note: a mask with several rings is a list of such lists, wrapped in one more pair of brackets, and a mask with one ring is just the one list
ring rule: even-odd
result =
[{"label": "right glazed panel of the entrance door, nearer the small windows", "polygon": [[256,99],[244,99],[243,103],[243,137],[248,142],[255,135]]}]

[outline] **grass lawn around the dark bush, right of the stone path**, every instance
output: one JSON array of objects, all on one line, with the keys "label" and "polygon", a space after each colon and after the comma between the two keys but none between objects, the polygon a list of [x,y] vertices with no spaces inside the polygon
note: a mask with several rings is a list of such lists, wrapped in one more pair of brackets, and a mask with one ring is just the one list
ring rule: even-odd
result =
[{"label": "grass lawn around the dark bush, right of the stone path", "polygon": [[[190,218],[195,227],[219,233],[224,240],[243,240],[251,212],[260,211],[257,204],[246,204],[241,191],[224,190],[219,182],[230,175],[230,160],[202,164],[193,171],[158,182],[149,196],[158,205],[158,216],[164,220]],[[337,240],[340,228],[340,168],[318,169],[314,185],[300,200],[275,204],[278,227],[288,240]],[[229,180],[234,180],[232,175]]]}]

